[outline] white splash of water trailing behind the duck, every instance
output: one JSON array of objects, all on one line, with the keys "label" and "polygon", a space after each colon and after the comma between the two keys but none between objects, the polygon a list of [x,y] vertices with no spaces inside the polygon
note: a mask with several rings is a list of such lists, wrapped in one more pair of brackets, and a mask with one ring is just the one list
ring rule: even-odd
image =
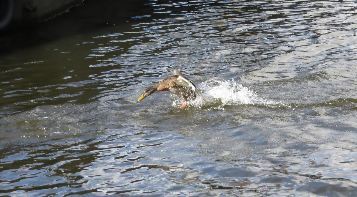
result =
[{"label": "white splash of water trailing behind the duck", "polygon": [[[275,102],[259,97],[256,92],[249,90],[233,79],[225,81],[208,80],[199,84],[198,89],[213,105],[265,105],[271,107],[285,105],[282,101]],[[173,105],[179,106],[181,103],[182,100],[175,100]],[[195,107],[207,105],[200,97],[188,104]]]}]

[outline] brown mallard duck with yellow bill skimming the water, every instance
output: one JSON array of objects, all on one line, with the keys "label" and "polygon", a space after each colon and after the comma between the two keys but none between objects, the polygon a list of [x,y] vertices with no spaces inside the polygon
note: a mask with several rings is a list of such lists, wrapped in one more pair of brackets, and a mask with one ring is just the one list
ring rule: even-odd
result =
[{"label": "brown mallard duck with yellow bill skimming the water", "polygon": [[[172,94],[175,94],[183,99],[185,99],[185,103],[180,107],[181,109],[187,107],[188,100],[195,100],[196,94],[195,92],[206,101],[205,97],[201,94],[200,91],[197,90],[195,84],[193,84],[185,75],[183,75],[180,71],[175,70],[174,75],[167,77],[162,80],[159,84],[148,87],[141,95],[141,97],[137,101],[143,100],[145,97],[151,95],[156,91],[169,91]],[[206,101],[207,102],[207,101]]]}]

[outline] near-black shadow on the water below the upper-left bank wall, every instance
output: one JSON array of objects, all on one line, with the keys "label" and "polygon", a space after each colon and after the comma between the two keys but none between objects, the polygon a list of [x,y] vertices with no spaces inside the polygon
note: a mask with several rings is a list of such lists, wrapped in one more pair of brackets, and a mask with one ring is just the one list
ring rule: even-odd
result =
[{"label": "near-black shadow on the water below the upper-left bank wall", "polygon": [[67,12],[37,24],[0,34],[0,55],[24,47],[40,45],[61,37],[80,35],[98,28],[136,20],[135,16],[148,15],[152,8],[148,0],[85,0]]}]

